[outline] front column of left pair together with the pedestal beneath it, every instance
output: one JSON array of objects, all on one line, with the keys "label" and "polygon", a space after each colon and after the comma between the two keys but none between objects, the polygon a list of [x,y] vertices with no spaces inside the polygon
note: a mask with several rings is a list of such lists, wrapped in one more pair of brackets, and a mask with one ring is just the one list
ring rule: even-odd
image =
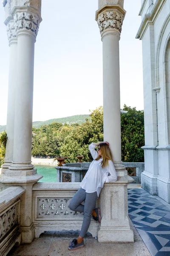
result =
[{"label": "front column of left pair together with the pedestal beneath it", "polygon": [[[34,43],[41,21],[41,1],[22,1],[11,12],[17,36],[13,161],[0,175],[0,182],[6,186],[23,186],[26,190],[21,199],[21,242],[31,243],[34,239],[32,186],[42,178],[31,164]],[[15,1],[11,0],[12,3]]]}]

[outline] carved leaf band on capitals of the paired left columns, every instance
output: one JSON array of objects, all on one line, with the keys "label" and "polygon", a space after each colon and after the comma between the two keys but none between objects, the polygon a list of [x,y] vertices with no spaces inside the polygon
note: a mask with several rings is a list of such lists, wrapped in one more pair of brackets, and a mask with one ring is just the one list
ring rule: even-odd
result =
[{"label": "carved leaf band on capitals of the paired left columns", "polygon": [[17,12],[14,15],[14,21],[7,25],[8,39],[16,37],[17,31],[21,29],[31,30],[37,36],[39,25],[39,19],[35,15],[27,12]]}]

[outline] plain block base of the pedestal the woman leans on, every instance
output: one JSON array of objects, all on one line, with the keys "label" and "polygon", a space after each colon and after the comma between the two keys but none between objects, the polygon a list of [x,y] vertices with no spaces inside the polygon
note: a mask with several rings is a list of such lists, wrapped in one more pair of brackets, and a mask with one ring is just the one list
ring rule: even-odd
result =
[{"label": "plain block base of the pedestal the woman leans on", "polygon": [[130,243],[134,242],[133,230],[130,227],[102,227],[98,232],[99,243]]}]

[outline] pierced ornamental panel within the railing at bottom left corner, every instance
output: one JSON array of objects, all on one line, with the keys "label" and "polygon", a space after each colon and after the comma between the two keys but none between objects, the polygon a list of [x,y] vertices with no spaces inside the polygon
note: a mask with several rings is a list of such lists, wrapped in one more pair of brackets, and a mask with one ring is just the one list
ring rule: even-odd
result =
[{"label": "pierced ornamental panel within the railing at bottom left corner", "polygon": [[17,224],[17,205],[14,205],[0,216],[0,241],[15,224]]}]

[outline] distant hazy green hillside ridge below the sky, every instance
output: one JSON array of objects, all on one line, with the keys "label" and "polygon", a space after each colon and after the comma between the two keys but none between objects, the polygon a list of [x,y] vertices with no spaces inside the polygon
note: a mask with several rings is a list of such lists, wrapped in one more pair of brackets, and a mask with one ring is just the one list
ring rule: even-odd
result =
[{"label": "distant hazy green hillside ridge below the sky", "polygon": [[[76,115],[76,116],[67,116],[67,117],[62,117],[62,118],[55,118],[55,119],[50,119],[47,121],[35,121],[32,123],[33,127],[39,128],[42,125],[49,125],[52,122],[59,122],[59,123],[68,123],[68,124],[74,124],[78,123],[81,124],[85,122],[85,119],[88,118],[89,115]],[[6,125],[0,125],[0,132],[6,130]]]}]

